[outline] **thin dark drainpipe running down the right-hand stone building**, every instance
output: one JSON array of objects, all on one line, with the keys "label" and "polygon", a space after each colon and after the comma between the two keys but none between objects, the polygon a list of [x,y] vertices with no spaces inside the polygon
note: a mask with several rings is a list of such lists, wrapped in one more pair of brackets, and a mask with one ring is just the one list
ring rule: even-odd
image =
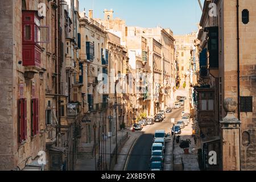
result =
[{"label": "thin dark drainpipe running down the right-hand stone building", "polygon": [[[237,0],[237,110],[238,119],[240,120],[240,35],[239,35],[239,0]],[[241,127],[239,127],[239,143],[240,143],[240,171],[241,169]]]}]

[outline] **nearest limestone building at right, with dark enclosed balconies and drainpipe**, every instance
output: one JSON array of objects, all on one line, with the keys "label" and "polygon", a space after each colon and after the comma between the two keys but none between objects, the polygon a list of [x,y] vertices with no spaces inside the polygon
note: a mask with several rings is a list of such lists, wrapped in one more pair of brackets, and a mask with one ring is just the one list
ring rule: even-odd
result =
[{"label": "nearest limestone building at right, with dark enclosed balconies and drainpipe", "polygon": [[[209,8],[209,3],[215,3],[217,9]],[[207,169],[255,170],[255,6],[250,0],[204,2],[198,36],[201,85],[196,88],[197,120],[203,151],[218,154],[218,165],[204,166]],[[226,98],[237,103],[238,132],[236,127],[228,132],[225,127],[229,125],[219,124],[226,116]],[[237,143],[238,148],[229,147]]]}]

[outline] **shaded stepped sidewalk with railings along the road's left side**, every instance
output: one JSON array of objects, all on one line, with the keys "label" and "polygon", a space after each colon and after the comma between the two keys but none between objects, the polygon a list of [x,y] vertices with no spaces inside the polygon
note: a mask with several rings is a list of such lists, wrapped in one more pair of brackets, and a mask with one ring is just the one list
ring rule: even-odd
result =
[{"label": "shaded stepped sidewalk with railings along the road's left side", "polygon": [[[117,138],[118,140],[121,139],[122,137],[124,137],[127,133],[128,133],[128,138],[126,141],[124,141],[122,144],[123,146],[121,146],[121,148],[118,148],[118,154],[122,154],[122,155],[118,155],[118,160],[117,160],[117,164],[114,164],[114,160],[115,160],[115,136],[111,138],[111,142],[110,142],[110,138],[106,139],[104,146],[106,148],[104,148],[104,152],[106,150],[106,159],[103,156],[103,162],[102,162],[102,169],[104,170],[110,170],[110,166],[112,166],[112,169],[114,168],[114,171],[122,171],[123,167],[125,166],[126,163],[126,158],[127,158],[127,154],[130,151],[131,146],[133,145],[133,143],[135,142],[135,140],[141,136],[141,132],[135,131],[134,133],[131,131],[132,127],[129,127],[126,130],[123,131],[118,131],[117,133]],[[111,145],[110,145],[111,143]],[[75,165],[75,171],[95,171],[96,167],[95,167],[95,163],[97,165],[98,163],[98,159],[101,156],[101,151],[100,154],[97,151],[96,152],[96,161],[94,158],[94,155],[90,158],[79,158],[77,159],[76,165]],[[93,153],[94,154],[94,153]],[[110,154],[112,154],[110,156]],[[111,158],[111,160],[110,160]],[[105,163],[106,162],[106,163]],[[105,166],[105,168],[104,168]],[[101,168],[100,168],[101,169]]]}]

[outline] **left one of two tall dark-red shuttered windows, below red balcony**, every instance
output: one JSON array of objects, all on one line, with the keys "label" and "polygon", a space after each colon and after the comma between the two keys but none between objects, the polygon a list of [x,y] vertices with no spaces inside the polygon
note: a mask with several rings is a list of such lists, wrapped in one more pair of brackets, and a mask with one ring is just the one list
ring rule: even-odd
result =
[{"label": "left one of two tall dark-red shuttered windows, below red balcony", "polygon": [[19,143],[27,139],[27,99],[20,98],[18,100],[18,128]]}]

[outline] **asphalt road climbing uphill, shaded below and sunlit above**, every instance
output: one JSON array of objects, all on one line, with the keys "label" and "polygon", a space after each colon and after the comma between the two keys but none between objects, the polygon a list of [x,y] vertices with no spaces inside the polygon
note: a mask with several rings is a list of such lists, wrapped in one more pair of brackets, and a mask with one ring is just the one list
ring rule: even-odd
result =
[{"label": "asphalt road climbing uphill, shaded below and sunlit above", "polygon": [[133,151],[131,152],[131,156],[129,158],[129,162],[127,164],[127,171],[148,171],[150,158],[151,158],[151,146],[153,143],[153,135],[155,134],[155,130],[165,130],[166,134],[171,133],[172,123],[171,118],[175,118],[175,122],[180,119],[181,112],[184,110],[184,107],[180,109],[173,110],[172,113],[167,113],[166,118],[161,123],[155,123],[152,126],[149,126],[145,131],[137,131],[143,132],[141,137],[137,140]]}]

